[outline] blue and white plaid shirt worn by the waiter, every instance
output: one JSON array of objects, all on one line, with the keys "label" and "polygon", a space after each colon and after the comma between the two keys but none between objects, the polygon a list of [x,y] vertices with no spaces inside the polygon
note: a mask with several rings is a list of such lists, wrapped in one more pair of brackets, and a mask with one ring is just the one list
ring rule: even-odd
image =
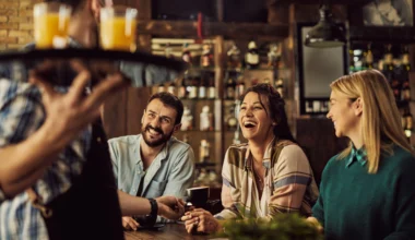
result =
[{"label": "blue and white plaid shirt worn by the waiter", "polygon": [[[0,147],[5,147],[38,130],[45,110],[42,95],[32,84],[1,79],[0,89]],[[35,182],[33,188],[44,204],[68,191],[71,179],[81,173],[90,140],[91,128],[69,144]],[[0,239],[48,239],[40,212],[32,206],[26,192],[7,199],[0,189]]]}]

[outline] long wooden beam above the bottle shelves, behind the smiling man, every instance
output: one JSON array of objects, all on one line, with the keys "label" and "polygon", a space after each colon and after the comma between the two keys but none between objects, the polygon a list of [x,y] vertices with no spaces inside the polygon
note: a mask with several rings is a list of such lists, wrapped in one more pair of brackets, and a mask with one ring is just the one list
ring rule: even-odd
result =
[{"label": "long wooden beam above the bottle shelves, behind the smiling man", "polygon": [[[204,22],[204,36],[224,36],[225,38],[252,39],[258,37],[288,37],[288,24],[266,23],[220,23]],[[141,35],[169,37],[198,37],[198,23],[194,21],[139,21],[138,33]]]}]

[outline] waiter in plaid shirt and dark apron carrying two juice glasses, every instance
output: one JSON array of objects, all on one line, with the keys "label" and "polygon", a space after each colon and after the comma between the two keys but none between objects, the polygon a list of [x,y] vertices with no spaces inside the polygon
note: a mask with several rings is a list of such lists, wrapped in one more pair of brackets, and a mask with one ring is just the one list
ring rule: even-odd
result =
[{"label": "waiter in plaid shirt and dark apron carrying two juice glasses", "polygon": [[[34,52],[97,48],[99,19],[102,48],[134,51],[135,17],[134,9],[98,0],[38,3]],[[26,81],[0,80],[0,239],[123,239],[121,215],[154,220],[182,215],[176,197],[146,200],[117,191],[105,133],[95,122],[104,100],[130,83],[122,73],[96,74],[90,67],[81,60],[45,61]]]}]

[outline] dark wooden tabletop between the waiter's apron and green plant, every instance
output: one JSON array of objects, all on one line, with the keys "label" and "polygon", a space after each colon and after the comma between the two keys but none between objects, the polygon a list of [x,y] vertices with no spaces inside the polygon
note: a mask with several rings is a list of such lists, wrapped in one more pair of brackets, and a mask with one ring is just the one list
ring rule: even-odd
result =
[{"label": "dark wooden tabletop between the waiter's apron and green plant", "polygon": [[205,240],[210,235],[190,235],[182,224],[166,224],[161,230],[124,231],[126,240]]}]

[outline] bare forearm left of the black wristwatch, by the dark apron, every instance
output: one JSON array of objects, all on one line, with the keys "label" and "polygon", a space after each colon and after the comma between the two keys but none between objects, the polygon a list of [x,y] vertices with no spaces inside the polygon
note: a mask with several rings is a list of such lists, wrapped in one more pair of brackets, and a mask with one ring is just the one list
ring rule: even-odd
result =
[{"label": "bare forearm left of the black wristwatch, by the dark apron", "polygon": [[138,197],[118,190],[122,216],[146,215],[151,212],[149,200]]}]

